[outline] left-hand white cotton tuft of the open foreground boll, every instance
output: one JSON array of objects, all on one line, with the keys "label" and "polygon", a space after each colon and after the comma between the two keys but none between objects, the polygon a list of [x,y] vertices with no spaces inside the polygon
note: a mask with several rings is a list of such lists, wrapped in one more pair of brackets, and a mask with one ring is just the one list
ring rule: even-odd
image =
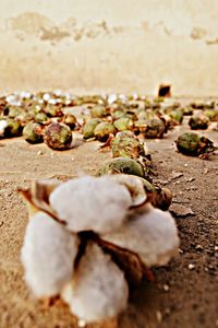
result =
[{"label": "left-hand white cotton tuft of the open foreground boll", "polygon": [[31,218],[22,247],[25,280],[35,296],[52,296],[70,281],[78,238],[44,212]]}]

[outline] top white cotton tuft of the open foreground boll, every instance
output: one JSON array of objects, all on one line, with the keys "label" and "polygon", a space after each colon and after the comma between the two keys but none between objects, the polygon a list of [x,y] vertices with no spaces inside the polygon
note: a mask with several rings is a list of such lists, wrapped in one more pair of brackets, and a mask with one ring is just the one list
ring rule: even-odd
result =
[{"label": "top white cotton tuft of the open foreground boll", "polygon": [[107,176],[69,180],[51,192],[49,201],[70,231],[97,233],[118,229],[132,204],[126,187]]}]

